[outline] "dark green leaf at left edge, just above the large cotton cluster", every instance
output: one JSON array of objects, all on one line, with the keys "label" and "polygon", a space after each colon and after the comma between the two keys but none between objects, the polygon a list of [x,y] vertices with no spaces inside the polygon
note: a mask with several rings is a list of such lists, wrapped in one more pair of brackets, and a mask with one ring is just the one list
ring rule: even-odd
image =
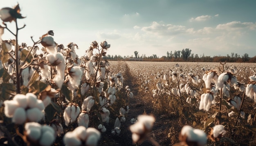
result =
[{"label": "dark green leaf at left edge, just above the large cotton cluster", "polygon": [[2,100],[7,100],[10,95],[16,93],[16,86],[11,83],[2,83],[0,86],[0,98]]}]

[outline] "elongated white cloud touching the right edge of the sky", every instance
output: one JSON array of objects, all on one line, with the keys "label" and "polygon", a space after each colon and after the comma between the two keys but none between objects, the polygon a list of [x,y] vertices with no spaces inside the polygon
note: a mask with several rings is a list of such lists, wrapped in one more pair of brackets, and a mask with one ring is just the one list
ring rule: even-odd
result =
[{"label": "elongated white cloud touching the right edge of the sky", "polygon": [[226,30],[236,30],[236,29],[244,29],[249,28],[252,30],[256,29],[256,23],[253,22],[240,22],[240,21],[232,21],[225,24],[218,24],[216,29],[226,29]]}]

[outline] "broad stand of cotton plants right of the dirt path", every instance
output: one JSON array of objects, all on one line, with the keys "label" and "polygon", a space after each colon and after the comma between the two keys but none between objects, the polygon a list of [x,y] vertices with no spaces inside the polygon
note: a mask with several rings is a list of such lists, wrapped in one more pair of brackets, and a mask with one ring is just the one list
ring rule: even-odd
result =
[{"label": "broad stand of cotton plants right of the dirt path", "polygon": [[[132,74],[137,77],[141,92],[152,101],[156,113],[178,115],[179,119],[185,121],[184,124],[207,133],[209,142],[219,142],[225,134],[222,142],[235,144],[237,135],[240,138],[246,137],[241,128],[247,131],[247,134],[254,133],[254,102],[256,102],[254,64],[192,62],[127,62],[127,64]],[[221,136],[216,136],[212,132],[214,126],[223,127]],[[254,142],[253,137],[249,137],[249,140]]]}]

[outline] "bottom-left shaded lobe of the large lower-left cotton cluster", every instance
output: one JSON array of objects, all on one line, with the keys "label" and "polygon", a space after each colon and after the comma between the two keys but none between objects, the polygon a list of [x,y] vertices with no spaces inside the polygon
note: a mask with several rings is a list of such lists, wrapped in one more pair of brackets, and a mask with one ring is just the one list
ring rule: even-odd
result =
[{"label": "bottom-left shaded lobe of the large lower-left cotton cluster", "polygon": [[12,122],[15,124],[23,124],[26,121],[26,111],[24,108],[16,108],[13,113]]}]

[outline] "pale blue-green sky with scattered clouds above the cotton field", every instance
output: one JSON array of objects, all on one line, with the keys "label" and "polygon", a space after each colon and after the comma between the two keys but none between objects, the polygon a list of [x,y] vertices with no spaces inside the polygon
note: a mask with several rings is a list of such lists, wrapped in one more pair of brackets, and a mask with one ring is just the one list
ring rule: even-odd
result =
[{"label": "pale blue-green sky with scattered clouds above the cotton field", "polygon": [[[49,30],[54,40],[79,46],[85,54],[92,41],[111,44],[107,55],[191,53],[256,55],[256,0],[0,0],[0,9],[20,5],[19,44],[32,46]],[[1,20],[0,20],[1,21]],[[7,22],[14,32],[14,22]],[[14,39],[7,30],[2,40]],[[42,46],[39,45],[41,48]]]}]

